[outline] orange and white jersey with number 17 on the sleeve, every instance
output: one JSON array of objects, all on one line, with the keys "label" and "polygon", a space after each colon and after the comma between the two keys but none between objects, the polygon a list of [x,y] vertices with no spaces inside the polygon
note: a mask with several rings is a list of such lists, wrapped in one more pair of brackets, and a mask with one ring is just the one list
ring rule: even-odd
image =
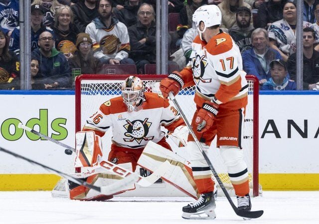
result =
[{"label": "orange and white jersey with number 17 on the sleeve", "polygon": [[214,96],[221,108],[242,108],[247,104],[248,84],[238,46],[220,32],[208,43],[197,35],[187,66],[180,72],[186,86],[196,85],[195,103],[202,106]]}]

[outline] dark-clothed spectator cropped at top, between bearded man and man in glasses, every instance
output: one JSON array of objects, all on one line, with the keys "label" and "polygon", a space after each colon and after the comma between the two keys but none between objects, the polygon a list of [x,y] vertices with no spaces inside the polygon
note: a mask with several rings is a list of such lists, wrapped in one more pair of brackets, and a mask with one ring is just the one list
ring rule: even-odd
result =
[{"label": "dark-clothed spectator cropped at top, between bearded man and man in glasses", "polygon": [[113,9],[114,17],[123,22],[127,27],[136,24],[140,0],[128,0],[122,9]]}]

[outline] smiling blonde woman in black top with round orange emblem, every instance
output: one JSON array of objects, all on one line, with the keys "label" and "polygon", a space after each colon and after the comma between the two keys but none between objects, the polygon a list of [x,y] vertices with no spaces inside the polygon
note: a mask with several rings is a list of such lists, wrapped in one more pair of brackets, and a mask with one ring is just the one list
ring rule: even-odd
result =
[{"label": "smiling blonde woman in black top with round orange emblem", "polygon": [[76,35],[78,28],[73,23],[73,12],[67,5],[61,5],[55,13],[55,48],[62,52],[67,59],[73,56],[76,51]]}]

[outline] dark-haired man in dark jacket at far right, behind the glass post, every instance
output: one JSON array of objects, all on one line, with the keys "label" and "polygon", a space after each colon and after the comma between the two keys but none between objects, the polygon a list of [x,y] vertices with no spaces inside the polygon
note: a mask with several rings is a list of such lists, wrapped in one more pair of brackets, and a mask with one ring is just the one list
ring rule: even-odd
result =
[{"label": "dark-haired man in dark jacket at far right, behind the glass post", "polygon": [[[315,31],[312,28],[304,28],[304,90],[319,90],[319,52],[314,50]],[[296,53],[293,53],[287,63],[291,79],[296,81]]]}]

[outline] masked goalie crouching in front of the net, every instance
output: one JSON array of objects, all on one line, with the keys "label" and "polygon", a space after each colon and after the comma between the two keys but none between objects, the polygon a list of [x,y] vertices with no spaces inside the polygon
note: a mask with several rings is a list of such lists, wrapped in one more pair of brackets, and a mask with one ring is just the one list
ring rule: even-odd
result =
[{"label": "masked goalie crouching in front of the net", "polygon": [[[173,132],[184,125],[184,121],[170,109],[167,99],[164,99],[161,94],[145,92],[142,80],[136,76],[129,76],[123,82],[122,96],[103,103],[99,110],[86,121],[82,133],[93,131],[96,136],[103,137],[112,127],[113,137],[108,161],[116,164],[132,163],[132,170],[135,171],[143,149],[149,141],[171,150],[161,131],[161,126]],[[77,145],[81,144],[78,138],[76,141]],[[96,152],[102,156],[102,150],[100,150],[102,146],[100,143],[97,144],[99,150]],[[97,178],[91,176],[87,181],[91,183],[97,181]],[[88,189],[84,186],[71,183],[70,198],[109,199],[102,195],[84,197],[87,191]]]}]

